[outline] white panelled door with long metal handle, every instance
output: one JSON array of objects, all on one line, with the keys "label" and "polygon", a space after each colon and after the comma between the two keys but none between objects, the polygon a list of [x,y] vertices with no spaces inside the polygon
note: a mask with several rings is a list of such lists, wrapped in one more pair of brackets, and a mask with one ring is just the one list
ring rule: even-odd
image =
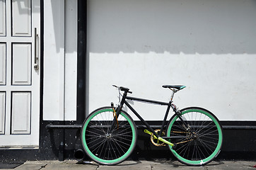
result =
[{"label": "white panelled door with long metal handle", "polygon": [[38,146],[40,0],[0,0],[0,147]]}]

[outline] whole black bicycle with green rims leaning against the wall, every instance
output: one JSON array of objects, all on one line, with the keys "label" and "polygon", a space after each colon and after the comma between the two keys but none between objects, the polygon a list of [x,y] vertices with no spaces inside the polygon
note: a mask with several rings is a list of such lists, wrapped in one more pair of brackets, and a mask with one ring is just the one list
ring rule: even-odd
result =
[{"label": "whole black bicycle with green rims leaning against the wall", "polygon": [[[111,103],[111,107],[96,109],[88,115],[81,129],[83,149],[95,162],[106,165],[119,164],[132,154],[136,146],[137,130],[134,120],[122,110],[124,104],[146,125],[144,132],[151,135],[153,145],[167,145],[183,164],[203,166],[221,151],[223,133],[218,118],[204,108],[190,107],[180,110],[173,103],[174,94],[185,86],[164,85],[163,88],[173,91],[168,103],[127,96],[132,94],[132,91],[122,86],[115,87],[122,96],[117,107]],[[120,91],[123,91],[123,94]],[[168,106],[161,129],[153,130],[127,100]],[[167,121],[170,108],[174,114]]]}]

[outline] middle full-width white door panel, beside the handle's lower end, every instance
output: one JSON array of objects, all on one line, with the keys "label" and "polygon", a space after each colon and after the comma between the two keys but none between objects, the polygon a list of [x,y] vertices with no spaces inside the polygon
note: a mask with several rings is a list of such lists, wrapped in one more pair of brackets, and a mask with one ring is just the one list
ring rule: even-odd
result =
[{"label": "middle full-width white door panel, beside the handle's lower end", "polygon": [[12,84],[28,85],[31,82],[31,44],[12,45]]}]

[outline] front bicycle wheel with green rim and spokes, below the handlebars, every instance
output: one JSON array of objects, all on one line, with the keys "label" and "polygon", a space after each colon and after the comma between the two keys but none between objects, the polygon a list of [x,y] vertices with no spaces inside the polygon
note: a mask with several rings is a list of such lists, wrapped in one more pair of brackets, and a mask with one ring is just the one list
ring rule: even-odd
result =
[{"label": "front bicycle wheel with green rim and spokes, below the handlebars", "polygon": [[110,107],[93,111],[83,123],[81,141],[88,157],[99,164],[119,164],[132,153],[136,145],[136,126],[132,118],[121,111],[113,130]]}]

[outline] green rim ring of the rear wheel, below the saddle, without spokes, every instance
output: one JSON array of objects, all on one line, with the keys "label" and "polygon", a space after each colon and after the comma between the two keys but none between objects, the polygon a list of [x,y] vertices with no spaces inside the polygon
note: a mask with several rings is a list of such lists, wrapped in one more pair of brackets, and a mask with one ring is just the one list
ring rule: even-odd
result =
[{"label": "green rim ring of the rear wheel, below the saddle, without spokes", "polygon": [[[182,162],[185,162],[187,164],[194,164],[194,165],[206,164],[206,162],[209,162],[209,161],[211,161],[211,159],[214,159],[214,157],[216,157],[216,155],[219,154],[219,150],[221,149],[221,144],[222,144],[221,126],[219,125],[219,122],[216,120],[216,118],[214,118],[213,115],[211,115],[210,113],[207,113],[206,111],[202,111],[200,109],[194,108],[194,109],[188,109],[187,111],[183,111],[182,115],[185,114],[185,113],[189,113],[189,112],[203,113],[203,114],[209,116],[209,118],[211,118],[211,120],[214,121],[214,123],[215,123],[215,125],[218,129],[218,132],[219,132],[219,142],[218,142],[218,145],[217,145],[216,149],[214,150],[214,152],[209,157],[206,157],[205,159],[202,159],[202,160],[199,160],[199,161],[191,161],[189,159],[185,159],[183,157],[180,157],[180,155],[177,152],[175,152],[175,150],[173,150],[172,147],[170,147],[170,146],[169,147],[170,147],[171,151],[173,152],[173,154],[175,155],[175,157],[177,157]],[[175,122],[175,120],[177,120],[177,118],[178,118],[178,116],[173,118],[172,122],[170,122],[170,125],[168,127],[168,132],[167,132],[168,137],[170,137],[170,129],[173,126],[173,123]]]}]

